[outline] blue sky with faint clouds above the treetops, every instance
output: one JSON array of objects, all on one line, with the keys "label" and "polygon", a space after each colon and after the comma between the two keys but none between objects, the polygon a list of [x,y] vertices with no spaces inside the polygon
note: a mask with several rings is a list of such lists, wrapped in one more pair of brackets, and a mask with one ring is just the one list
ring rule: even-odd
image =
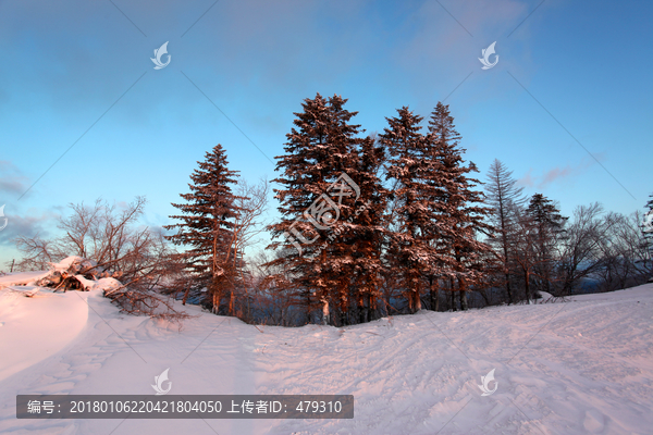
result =
[{"label": "blue sky with faint clouds above the treetops", "polygon": [[[316,92],[348,98],[368,133],[446,98],[481,178],[500,159],[566,215],[642,210],[652,18],[644,1],[0,0],[0,264],[69,203],[144,195],[144,223],[171,223],[219,142],[245,179],[272,179]],[[165,41],[171,62],[153,70]]]}]

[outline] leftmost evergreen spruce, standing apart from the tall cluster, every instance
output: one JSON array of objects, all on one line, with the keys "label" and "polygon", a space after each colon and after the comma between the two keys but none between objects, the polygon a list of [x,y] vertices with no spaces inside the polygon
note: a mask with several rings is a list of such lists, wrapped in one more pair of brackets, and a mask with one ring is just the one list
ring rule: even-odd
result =
[{"label": "leftmost evergreen spruce, standing apart from the tall cluster", "polygon": [[233,221],[238,210],[231,186],[236,184],[237,172],[227,169],[221,145],[198,164],[190,175],[190,191],[180,195],[186,202],[172,204],[183,214],[170,217],[181,222],[164,227],[176,229],[167,238],[186,248],[181,257],[187,270],[198,287],[208,288],[204,303],[218,312],[225,293],[234,290],[242,268],[242,259],[234,258],[233,249]]}]

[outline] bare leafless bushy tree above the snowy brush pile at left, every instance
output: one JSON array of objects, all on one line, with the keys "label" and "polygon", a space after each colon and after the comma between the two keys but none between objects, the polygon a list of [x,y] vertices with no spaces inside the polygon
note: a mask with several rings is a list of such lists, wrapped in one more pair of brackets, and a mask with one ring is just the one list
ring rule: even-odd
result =
[{"label": "bare leafless bushy tree above the snowy brush pile at left", "polygon": [[175,268],[162,232],[138,225],[146,203],[144,197],[137,197],[124,206],[109,204],[101,199],[90,207],[70,204],[71,214],[59,220],[58,227],[62,232],[59,237],[42,239],[37,235],[15,240],[24,256],[19,266],[45,270],[48,263],[70,256],[94,260],[97,264],[79,274],[111,271],[123,286],[106,296],[123,311],[169,320],[184,319],[185,313],[176,312],[165,297],[153,291],[164,286],[170,272],[178,268]]}]

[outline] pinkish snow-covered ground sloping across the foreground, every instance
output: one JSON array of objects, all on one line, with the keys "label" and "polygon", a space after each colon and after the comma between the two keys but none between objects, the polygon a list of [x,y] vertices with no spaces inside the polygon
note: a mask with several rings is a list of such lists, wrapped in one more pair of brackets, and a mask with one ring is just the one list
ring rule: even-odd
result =
[{"label": "pinkish snow-covered ground sloping across the foreground", "polygon": [[[185,309],[198,316],[180,332],[121,315],[99,291],[0,289],[0,433],[653,433],[652,284],[344,328],[257,328]],[[168,368],[171,394],[352,394],[355,418],[15,418],[17,394],[153,395]],[[497,389],[483,397],[493,369]]]}]

